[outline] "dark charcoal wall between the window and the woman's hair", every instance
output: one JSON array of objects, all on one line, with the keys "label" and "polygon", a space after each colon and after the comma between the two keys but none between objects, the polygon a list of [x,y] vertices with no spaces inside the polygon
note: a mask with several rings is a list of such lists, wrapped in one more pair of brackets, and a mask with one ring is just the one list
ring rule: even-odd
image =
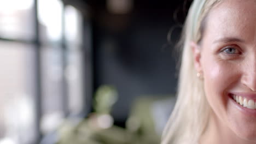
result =
[{"label": "dark charcoal wall between the window and the woman's hair", "polygon": [[135,1],[129,14],[111,14],[104,1],[88,1],[92,27],[93,91],[101,85],[117,88],[115,122],[123,125],[138,97],[174,95],[177,53],[168,44],[173,27],[176,41],[190,1]]}]

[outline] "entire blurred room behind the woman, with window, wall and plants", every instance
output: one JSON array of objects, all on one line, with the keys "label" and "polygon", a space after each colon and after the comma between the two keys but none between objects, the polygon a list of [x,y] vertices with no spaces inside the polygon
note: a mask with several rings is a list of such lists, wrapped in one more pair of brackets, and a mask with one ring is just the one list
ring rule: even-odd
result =
[{"label": "entire blurred room behind the woman, with window, wall and plants", "polygon": [[0,144],[159,143],[190,3],[0,0]]}]

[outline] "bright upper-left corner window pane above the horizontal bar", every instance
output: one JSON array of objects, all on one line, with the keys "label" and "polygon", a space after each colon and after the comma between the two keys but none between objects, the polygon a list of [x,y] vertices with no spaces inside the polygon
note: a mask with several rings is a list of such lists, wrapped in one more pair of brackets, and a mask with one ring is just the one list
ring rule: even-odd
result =
[{"label": "bright upper-left corner window pane above the horizontal bar", "polygon": [[34,38],[33,0],[0,0],[1,38]]}]

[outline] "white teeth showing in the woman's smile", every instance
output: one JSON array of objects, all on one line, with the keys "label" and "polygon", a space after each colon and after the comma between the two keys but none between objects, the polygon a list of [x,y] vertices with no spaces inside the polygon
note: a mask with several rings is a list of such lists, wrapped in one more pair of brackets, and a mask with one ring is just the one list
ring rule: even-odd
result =
[{"label": "white teeth showing in the woman's smile", "polygon": [[253,99],[247,99],[240,95],[232,94],[232,98],[236,101],[237,104],[247,107],[248,109],[256,109],[256,103]]}]

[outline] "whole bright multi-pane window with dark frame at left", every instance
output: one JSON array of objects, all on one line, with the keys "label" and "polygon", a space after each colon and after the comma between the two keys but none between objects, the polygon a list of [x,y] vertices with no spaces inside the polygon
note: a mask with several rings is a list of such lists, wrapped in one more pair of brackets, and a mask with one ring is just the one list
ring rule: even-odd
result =
[{"label": "whole bright multi-pane window with dark frame at left", "polygon": [[0,18],[0,144],[39,143],[83,111],[83,17],[60,0],[0,0]]}]

